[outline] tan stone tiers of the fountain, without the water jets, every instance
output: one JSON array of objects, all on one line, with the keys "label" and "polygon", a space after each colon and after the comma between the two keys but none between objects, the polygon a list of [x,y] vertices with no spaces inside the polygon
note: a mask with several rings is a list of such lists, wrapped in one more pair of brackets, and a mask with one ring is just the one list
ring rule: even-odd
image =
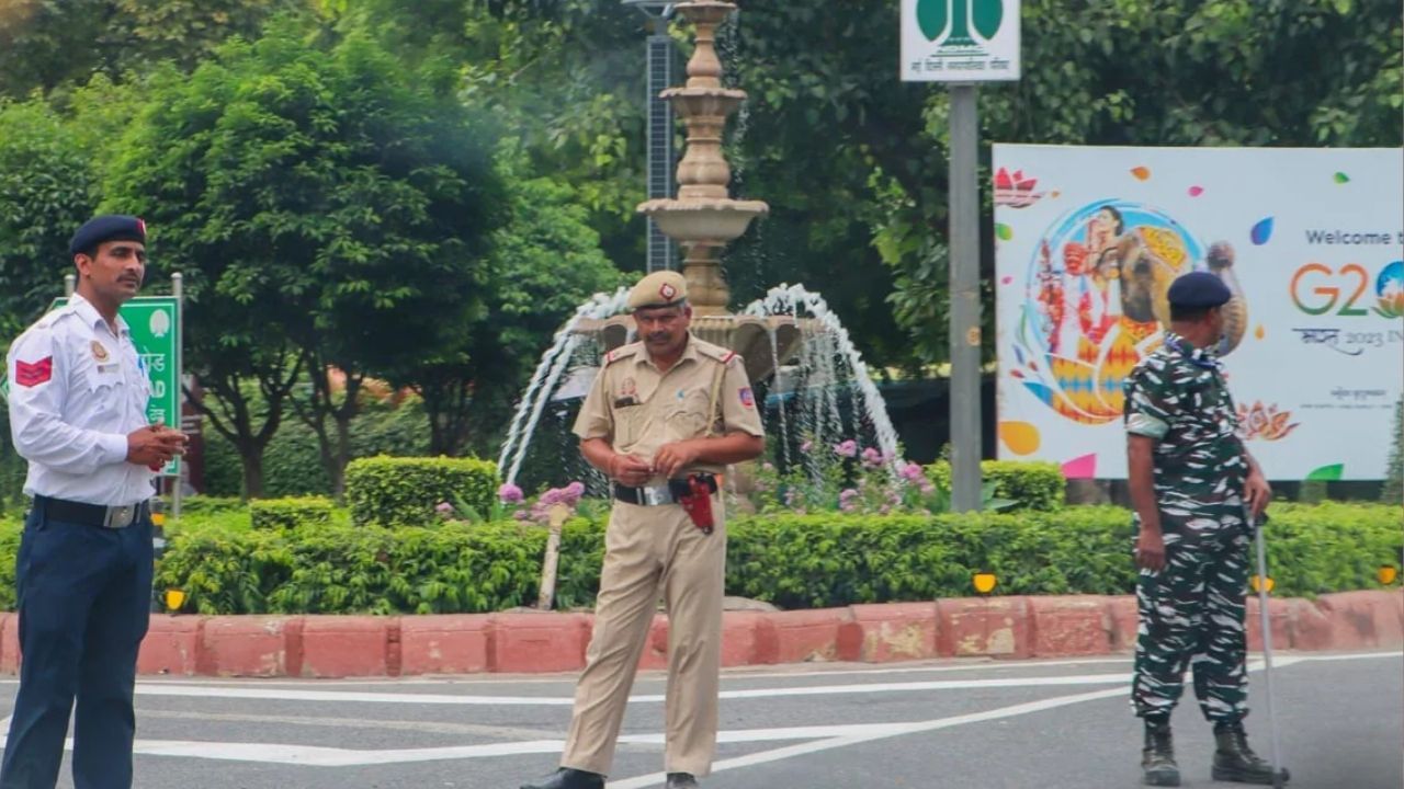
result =
[{"label": "tan stone tiers of the fountain, without the water jets", "polygon": [[[663,234],[682,246],[692,331],[739,352],[751,380],[762,380],[796,352],[800,327],[793,317],[731,314],[727,309],[731,291],[722,274],[722,250],[746,233],[751,219],[769,211],[761,201],[733,199],[727,194],[731,167],[722,154],[722,132],[727,117],[746,101],[746,91],[722,87],[716,28],[736,6],[695,0],[674,10],[696,31],[687,84],[661,94],[687,128],[687,153],[678,163],[678,197],[650,199],[639,205],[639,212],[651,216]],[[628,316],[580,326],[583,331],[598,333],[605,350],[623,345],[632,329]]]}]

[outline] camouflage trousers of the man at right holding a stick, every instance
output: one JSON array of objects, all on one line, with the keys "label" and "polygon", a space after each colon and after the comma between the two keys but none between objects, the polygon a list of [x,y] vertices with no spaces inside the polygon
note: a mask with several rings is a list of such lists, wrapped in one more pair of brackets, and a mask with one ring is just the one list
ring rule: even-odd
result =
[{"label": "camouflage trousers of the man at right holding a stick", "polygon": [[1240,519],[1227,521],[1192,533],[1167,531],[1165,567],[1140,571],[1132,681],[1132,706],[1140,717],[1170,716],[1186,665],[1206,719],[1236,722],[1248,715],[1244,587],[1251,538]]}]

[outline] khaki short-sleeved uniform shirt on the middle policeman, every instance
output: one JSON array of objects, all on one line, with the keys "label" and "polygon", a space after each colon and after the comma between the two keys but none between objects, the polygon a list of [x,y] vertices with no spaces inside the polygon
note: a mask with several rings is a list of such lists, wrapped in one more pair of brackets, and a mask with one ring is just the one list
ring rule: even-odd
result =
[{"label": "khaki short-sleeved uniform shirt on the middle policeman", "polygon": [[[709,416],[716,376],[722,376],[720,389]],[[709,420],[713,435],[765,435],[741,357],[688,334],[682,357],[667,372],[658,371],[643,343],[611,351],[585,396],[574,432],[581,441],[604,438],[615,452],[653,463],[664,444],[708,435]],[[680,476],[722,470],[717,463],[694,463]],[[650,484],[661,482],[658,477]]]}]

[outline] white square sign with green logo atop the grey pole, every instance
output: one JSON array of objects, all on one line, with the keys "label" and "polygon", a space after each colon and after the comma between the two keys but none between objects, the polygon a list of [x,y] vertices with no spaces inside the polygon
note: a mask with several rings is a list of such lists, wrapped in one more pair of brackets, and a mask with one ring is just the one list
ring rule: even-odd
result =
[{"label": "white square sign with green logo atop the grey pole", "polygon": [[1019,0],[903,0],[901,79],[1019,79]]}]

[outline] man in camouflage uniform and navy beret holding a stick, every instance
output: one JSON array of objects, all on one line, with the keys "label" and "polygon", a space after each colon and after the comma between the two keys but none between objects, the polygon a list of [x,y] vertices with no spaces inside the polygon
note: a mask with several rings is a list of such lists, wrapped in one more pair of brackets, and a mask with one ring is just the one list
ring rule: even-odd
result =
[{"label": "man in camouflage uniform and navy beret holding a stick", "polygon": [[[1244,667],[1248,512],[1271,497],[1238,439],[1237,414],[1213,348],[1223,336],[1228,288],[1209,272],[1170,288],[1165,343],[1126,379],[1125,420],[1136,508],[1140,626],[1132,705],[1146,722],[1141,769],[1151,786],[1179,786],[1170,715],[1186,665],[1214,724],[1216,781],[1272,783],[1250,748]],[[1286,774],[1286,771],[1283,771]]]}]

